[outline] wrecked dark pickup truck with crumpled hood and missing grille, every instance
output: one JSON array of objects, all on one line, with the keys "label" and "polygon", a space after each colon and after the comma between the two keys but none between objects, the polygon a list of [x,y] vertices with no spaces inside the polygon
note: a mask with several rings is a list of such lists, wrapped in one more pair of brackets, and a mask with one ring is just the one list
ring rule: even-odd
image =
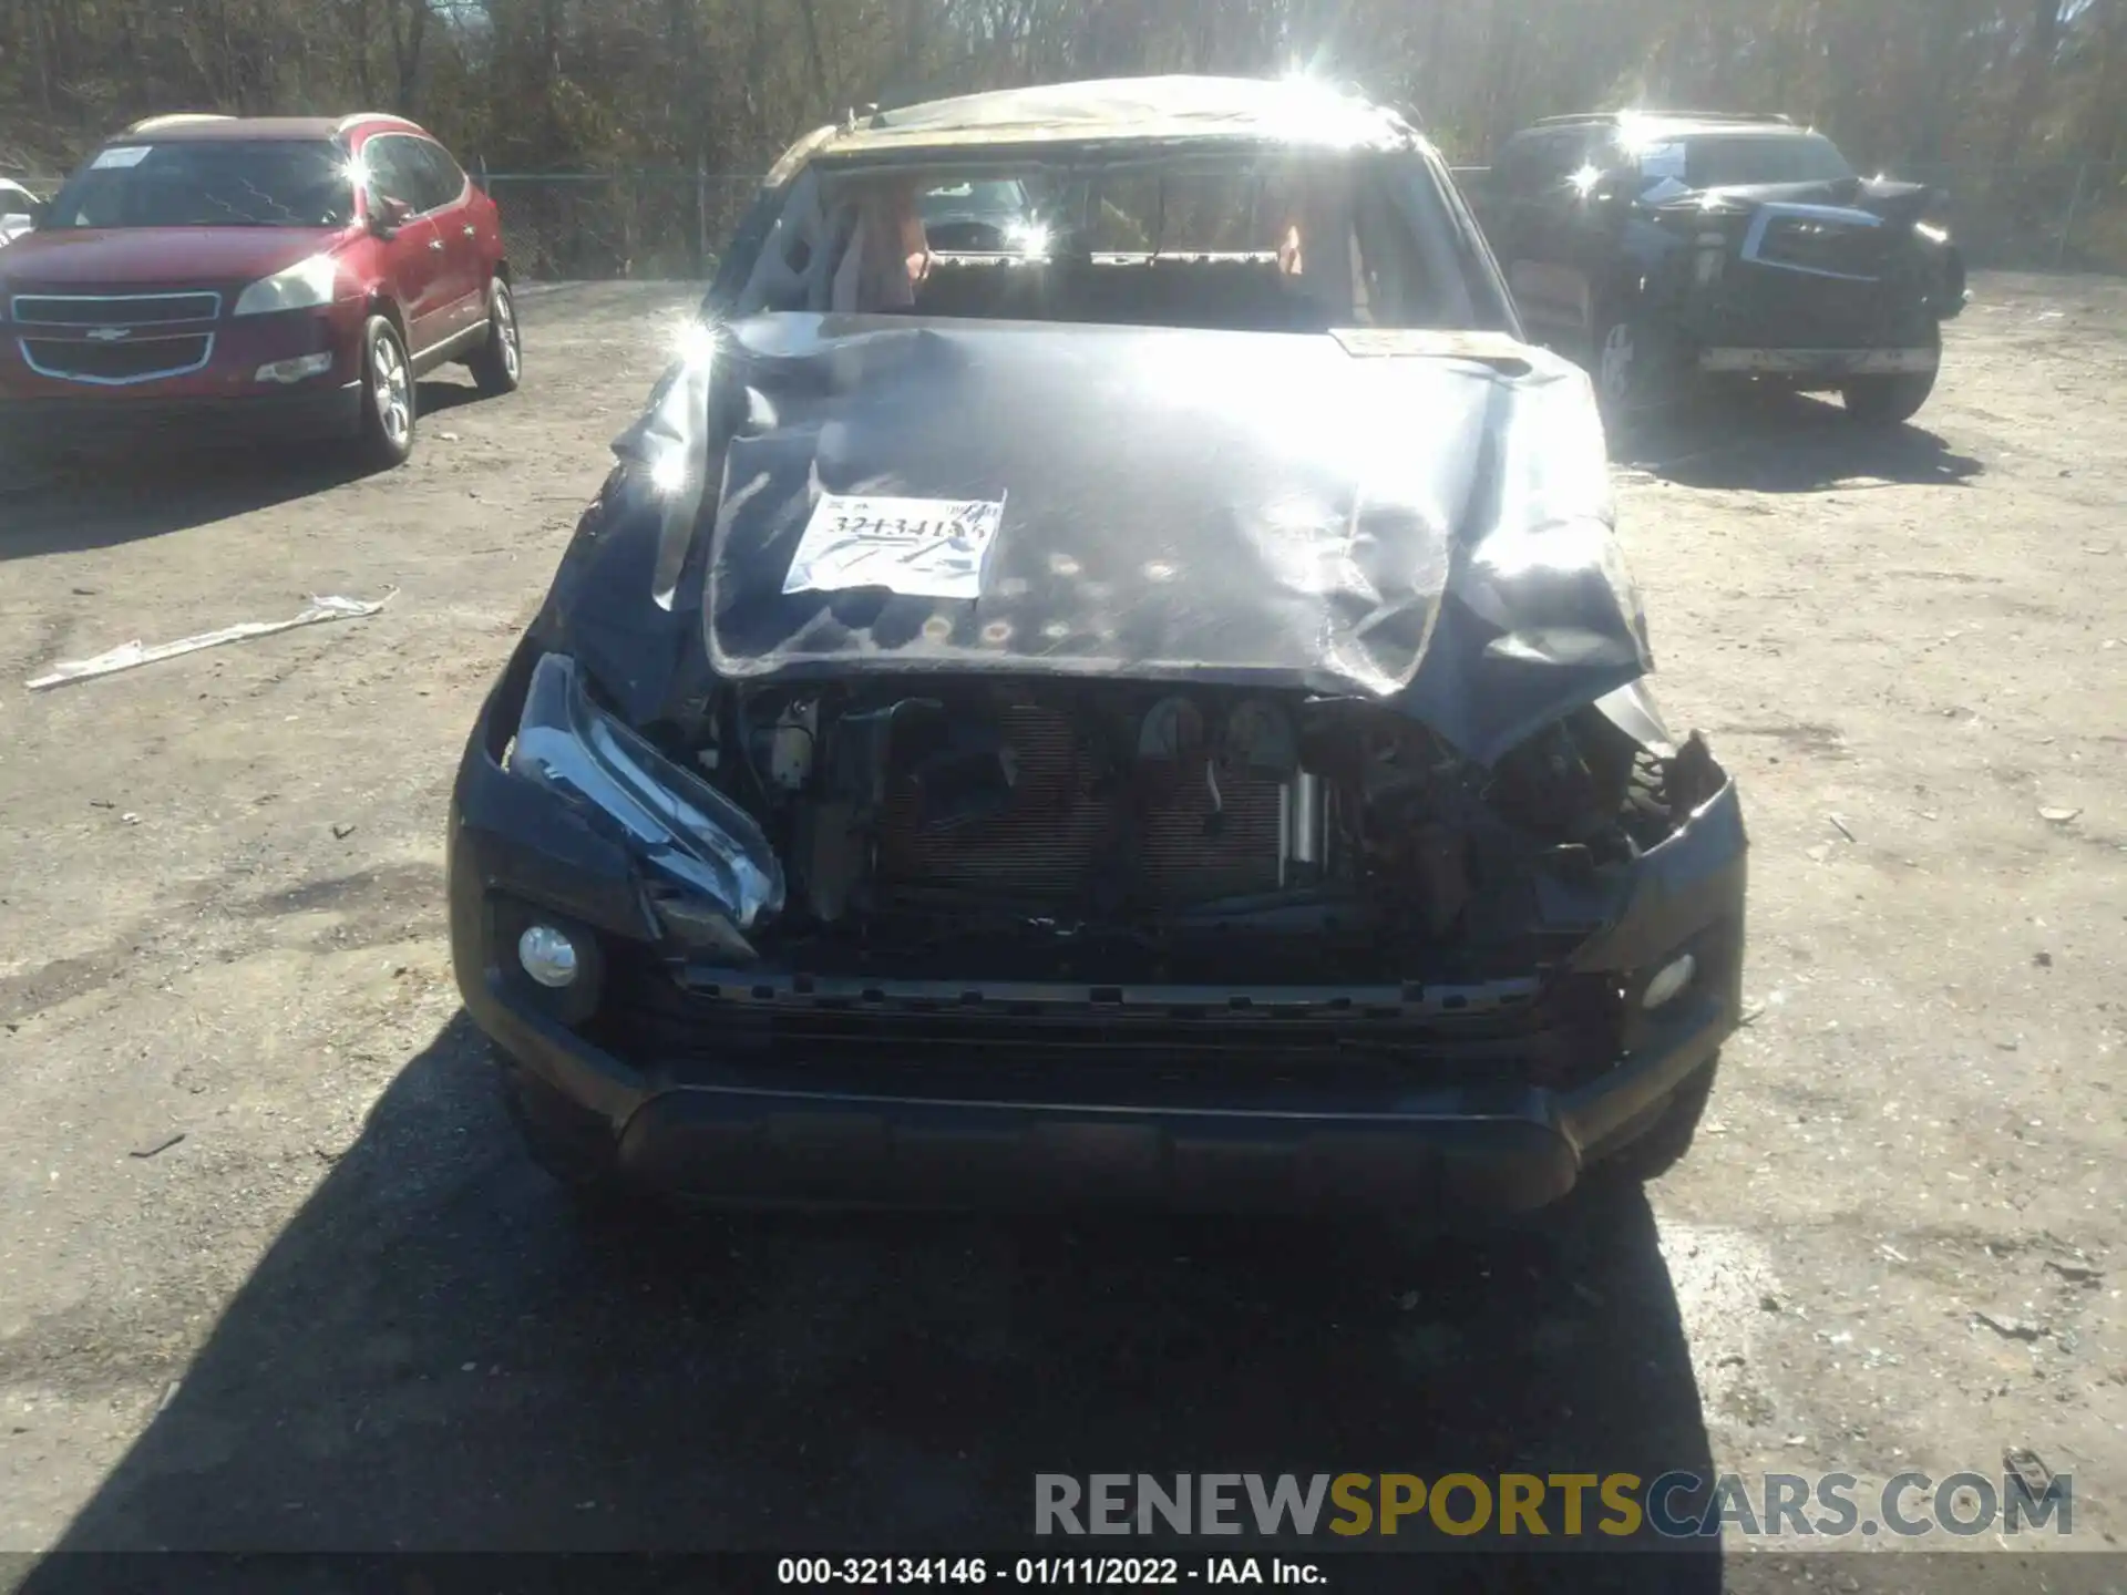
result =
[{"label": "wrecked dark pickup truck with crumpled hood and missing grille", "polygon": [[[957,183],[1038,215],[940,251]],[[1642,681],[1589,381],[1408,125],[851,119],[674,338],[449,821],[572,1191],[1425,1219],[1689,1144],[1736,791]]]}]

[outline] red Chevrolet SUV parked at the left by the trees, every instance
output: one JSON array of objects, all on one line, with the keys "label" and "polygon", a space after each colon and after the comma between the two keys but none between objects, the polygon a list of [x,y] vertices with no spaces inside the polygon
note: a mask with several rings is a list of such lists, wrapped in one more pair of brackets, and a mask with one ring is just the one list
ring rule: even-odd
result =
[{"label": "red Chevrolet SUV parked at the left by the trees", "polygon": [[0,253],[0,447],[413,451],[415,379],[523,355],[493,200],[400,117],[151,117]]}]

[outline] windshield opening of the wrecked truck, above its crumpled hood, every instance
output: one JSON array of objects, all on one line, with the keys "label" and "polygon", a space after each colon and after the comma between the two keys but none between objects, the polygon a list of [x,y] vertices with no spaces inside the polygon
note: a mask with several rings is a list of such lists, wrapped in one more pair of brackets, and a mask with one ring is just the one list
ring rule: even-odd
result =
[{"label": "windshield opening of the wrecked truck, above its crumpled hood", "polygon": [[1423,162],[1291,151],[813,168],[740,313],[1227,332],[1478,325]]}]

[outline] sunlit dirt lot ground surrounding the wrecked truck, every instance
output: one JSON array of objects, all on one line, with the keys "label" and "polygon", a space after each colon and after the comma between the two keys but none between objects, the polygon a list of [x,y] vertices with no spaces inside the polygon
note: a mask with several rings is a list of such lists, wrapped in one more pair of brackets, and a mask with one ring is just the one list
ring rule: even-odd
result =
[{"label": "sunlit dirt lot ground surrounding the wrecked truck", "polygon": [[457,1014],[442,808],[683,293],[534,293],[527,387],[428,385],[389,478],[0,498],[0,1546],[936,1550],[1036,1470],[2004,1446],[2114,1544],[2127,285],[1976,289],[1919,427],[1787,402],[1621,466],[1657,689],[1744,780],[1755,1021],[1648,1202],[1489,1244],[570,1223]]}]

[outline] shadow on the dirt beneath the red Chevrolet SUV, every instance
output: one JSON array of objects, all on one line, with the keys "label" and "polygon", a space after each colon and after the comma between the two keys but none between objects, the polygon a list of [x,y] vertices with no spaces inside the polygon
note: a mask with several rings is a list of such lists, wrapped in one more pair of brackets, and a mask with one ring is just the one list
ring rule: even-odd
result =
[{"label": "shadow on the dirt beneath the red Chevrolet SUV", "polygon": [[[468,383],[425,381],[417,404],[434,421],[476,398]],[[4,485],[0,559],[160,538],[323,493],[362,474],[353,440],[198,451],[160,444],[123,457],[83,455]]]}]

